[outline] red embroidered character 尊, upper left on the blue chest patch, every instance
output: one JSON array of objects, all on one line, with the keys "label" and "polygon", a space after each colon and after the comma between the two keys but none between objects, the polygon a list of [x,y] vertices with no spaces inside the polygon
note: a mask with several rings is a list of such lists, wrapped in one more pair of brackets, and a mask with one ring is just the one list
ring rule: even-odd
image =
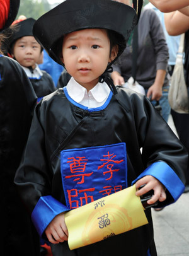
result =
[{"label": "red embroidered character \u5c0a, upper left on the blue chest patch", "polygon": [[84,183],[84,177],[91,176],[93,174],[93,172],[91,172],[91,173],[83,173],[83,172],[85,172],[86,164],[87,164],[88,159],[86,159],[84,156],[83,157],[77,156],[76,158],[74,158],[74,157],[67,158],[68,160],[70,160],[70,159],[72,160],[72,161],[67,161],[67,163],[71,163],[69,165],[71,173],[82,172],[82,174],[67,175],[65,178],[76,177],[76,178],[74,178],[74,182],[76,182],[76,181],[81,179],[81,181],[77,182],[77,184],[82,184],[82,183]]}]

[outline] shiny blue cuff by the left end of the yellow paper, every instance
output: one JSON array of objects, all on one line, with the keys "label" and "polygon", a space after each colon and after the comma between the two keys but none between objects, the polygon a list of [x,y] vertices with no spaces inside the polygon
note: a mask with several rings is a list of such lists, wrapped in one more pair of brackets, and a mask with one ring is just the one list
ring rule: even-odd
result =
[{"label": "shiny blue cuff by the left end of the yellow paper", "polygon": [[61,204],[57,199],[51,195],[40,197],[33,212],[31,213],[31,219],[35,228],[40,236],[42,236],[45,228],[49,225],[52,219],[61,212],[68,211],[69,209]]}]

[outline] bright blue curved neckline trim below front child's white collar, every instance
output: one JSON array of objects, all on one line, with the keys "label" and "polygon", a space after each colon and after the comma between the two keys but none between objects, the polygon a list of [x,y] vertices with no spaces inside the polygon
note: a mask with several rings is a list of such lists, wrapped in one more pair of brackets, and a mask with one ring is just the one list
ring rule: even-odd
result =
[{"label": "bright blue curved neckline trim below front child's white collar", "polygon": [[88,108],[88,107],[85,107],[84,105],[81,105],[81,104],[75,102],[75,101],[71,98],[71,96],[69,96],[66,87],[64,87],[63,90],[64,90],[64,93],[65,93],[65,95],[66,95],[66,98],[67,98],[67,100],[69,100],[69,102],[71,102],[72,104],[76,105],[76,107],[83,108],[83,110],[88,110],[89,112],[95,112],[95,111],[100,111],[100,110],[105,109],[105,108],[108,106],[108,104],[110,103],[110,100],[112,99],[112,95],[113,95],[112,91],[110,91],[110,94],[109,94],[109,96],[108,96],[106,102],[105,102],[101,107],[97,107],[97,108]]}]

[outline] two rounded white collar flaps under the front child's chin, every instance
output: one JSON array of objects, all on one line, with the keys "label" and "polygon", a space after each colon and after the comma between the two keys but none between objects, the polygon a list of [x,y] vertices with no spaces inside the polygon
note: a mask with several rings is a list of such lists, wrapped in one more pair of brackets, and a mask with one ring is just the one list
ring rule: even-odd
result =
[{"label": "two rounded white collar flaps under the front child's chin", "polygon": [[74,78],[71,78],[69,83],[67,83],[66,88],[69,96],[77,103],[82,102],[84,96],[88,95],[89,93],[91,93],[96,102],[99,103],[104,102],[110,94],[110,88],[105,82],[97,83],[95,87],[88,92],[86,88],[77,83]]}]

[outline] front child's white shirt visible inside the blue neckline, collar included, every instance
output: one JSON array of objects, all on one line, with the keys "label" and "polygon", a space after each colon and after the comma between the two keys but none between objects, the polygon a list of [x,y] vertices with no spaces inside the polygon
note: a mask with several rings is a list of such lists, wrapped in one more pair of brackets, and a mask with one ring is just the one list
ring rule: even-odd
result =
[{"label": "front child's white shirt visible inside the blue neckline, collar included", "polygon": [[66,89],[72,100],[88,108],[101,107],[110,95],[110,88],[106,83],[98,83],[88,92],[74,78],[67,83]]}]

